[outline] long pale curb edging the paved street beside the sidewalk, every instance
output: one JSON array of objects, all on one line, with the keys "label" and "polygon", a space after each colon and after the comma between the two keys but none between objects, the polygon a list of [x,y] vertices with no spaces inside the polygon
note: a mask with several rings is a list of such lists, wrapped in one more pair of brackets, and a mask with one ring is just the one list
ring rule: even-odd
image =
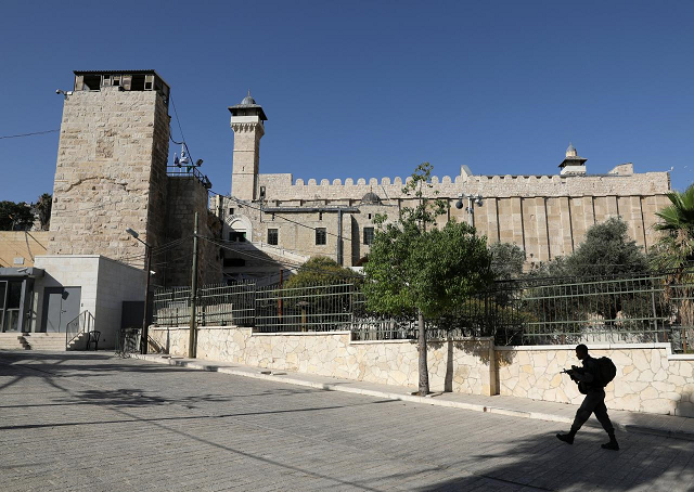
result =
[{"label": "long pale curb edging the paved street beside the sidewalk", "polygon": [[[399,401],[407,401],[411,403],[422,403],[422,404],[436,405],[436,406],[448,406],[452,409],[470,410],[473,412],[493,413],[493,414],[505,415],[510,417],[531,418],[535,420],[557,422],[562,424],[571,424],[574,422],[573,417],[563,417],[561,415],[542,413],[542,412],[526,412],[523,410],[507,409],[503,406],[489,406],[489,405],[481,405],[478,403],[464,403],[464,402],[458,402],[458,401],[436,400],[435,398],[432,398],[432,397],[393,393],[393,392],[378,391],[378,390],[367,389],[367,388],[345,387],[342,385],[332,385],[330,383],[308,381],[305,379],[297,379],[292,376],[288,376],[288,374],[283,371],[273,372],[271,370],[264,370],[261,367],[257,367],[258,372],[255,373],[255,372],[249,372],[248,370],[245,370],[245,371],[235,370],[233,368],[233,366],[207,364],[204,362],[192,361],[190,359],[185,360],[183,358],[177,358],[177,357],[163,358],[162,355],[158,355],[158,354],[143,355],[140,353],[132,353],[131,357],[133,359],[139,359],[147,362],[155,362],[158,364],[167,364],[167,365],[174,365],[178,367],[188,367],[188,368],[194,368],[200,371],[231,374],[233,376],[250,377],[254,379],[266,379],[269,381],[284,383],[287,385],[295,385],[295,386],[305,386],[308,388],[314,388],[314,389],[320,389],[324,391],[342,391],[347,393],[363,394],[367,397],[384,398],[386,400],[399,400]],[[256,368],[256,367],[253,367],[253,368]],[[355,383],[359,383],[359,381],[355,381]],[[592,423],[592,422],[589,422],[586,425],[589,427],[602,428],[599,424]],[[615,424],[615,428],[622,432],[648,433],[653,436],[694,441],[694,433],[687,432],[687,431],[663,430],[663,429],[656,429],[652,427],[644,427],[644,426],[638,426],[638,425],[624,425],[624,424]]]}]

